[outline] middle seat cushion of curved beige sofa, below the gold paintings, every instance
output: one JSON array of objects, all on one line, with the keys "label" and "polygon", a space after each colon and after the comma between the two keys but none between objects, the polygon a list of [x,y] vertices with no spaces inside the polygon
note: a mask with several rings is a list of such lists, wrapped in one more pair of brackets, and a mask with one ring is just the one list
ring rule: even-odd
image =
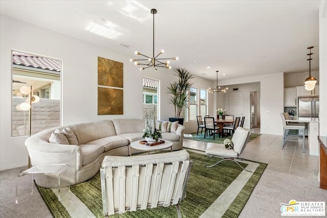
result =
[{"label": "middle seat cushion of curved beige sofa, below the gold paintings", "polygon": [[128,146],[129,141],[127,138],[115,135],[115,136],[110,136],[110,137],[100,138],[94,141],[90,141],[86,144],[99,144],[100,146],[104,147],[104,152],[107,152],[111,149],[119,148],[122,146]]}]

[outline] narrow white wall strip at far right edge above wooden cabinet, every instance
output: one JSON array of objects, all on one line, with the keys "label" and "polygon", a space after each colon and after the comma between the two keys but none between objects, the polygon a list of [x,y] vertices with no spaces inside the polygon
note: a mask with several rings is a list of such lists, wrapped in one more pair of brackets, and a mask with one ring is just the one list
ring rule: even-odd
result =
[{"label": "narrow white wall strip at far right edge above wooden cabinet", "polygon": [[319,7],[319,135],[327,136],[327,2]]}]

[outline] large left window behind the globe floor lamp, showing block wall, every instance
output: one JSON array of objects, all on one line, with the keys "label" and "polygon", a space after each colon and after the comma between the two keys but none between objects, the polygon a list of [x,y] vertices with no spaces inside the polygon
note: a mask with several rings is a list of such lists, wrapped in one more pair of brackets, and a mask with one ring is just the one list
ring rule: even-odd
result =
[{"label": "large left window behind the globe floor lamp, showing block wall", "polygon": [[22,86],[32,86],[32,95],[40,98],[31,107],[31,135],[60,126],[60,76],[60,60],[12,51],[12,136],[29,135],[29,108],[21,105],[29,105],[30,94],[22,94]]}]

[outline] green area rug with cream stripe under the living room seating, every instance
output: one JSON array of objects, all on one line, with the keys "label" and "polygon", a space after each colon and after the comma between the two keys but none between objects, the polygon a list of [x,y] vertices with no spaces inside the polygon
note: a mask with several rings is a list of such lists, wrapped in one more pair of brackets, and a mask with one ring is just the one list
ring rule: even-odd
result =
[{"label": "green area rug with cream stripe under the living room seating", "polygon": [[[186,198],[180,204],[182,217],[199,217],[201,214],[204,217],[239,216],[267,164],[246,160],[240,162],[253,173],[243,171],[232,161],[223,161],[207,168],[206,165],[212,165],[220,158],[188,152],[193,167]],[[241,185],[240,181],[243,181]],[[235,189],[239,191],[235,193]],[[89,181],[71,186],[71,192],[61,202],[54,193],[56,189],[38,187],[38,190],[54,217],[104,217],[100,173]],[[177,217],[177,211],[175,206],[158,207],[109,217]]]}]

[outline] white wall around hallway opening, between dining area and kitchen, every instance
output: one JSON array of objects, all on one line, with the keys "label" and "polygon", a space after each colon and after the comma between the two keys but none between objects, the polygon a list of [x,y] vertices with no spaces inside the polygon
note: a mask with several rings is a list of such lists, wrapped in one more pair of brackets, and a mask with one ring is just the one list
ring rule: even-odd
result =
[{"label": "white wall around hallway opening, between dining area and kitchen", "polygon": [[[237,79],[222,80],[220,81],[220,85],[227,85],[229,89],[229,86],[231,85],[254,82],[260,82],[261,133],[282,135],[283,125],[280,113],[284,112],[283,72],[278,72],[276,74],[266,74],[253,77],[242,77]],[[249,119],[245,119],[244,127],[249,127]]]}]

